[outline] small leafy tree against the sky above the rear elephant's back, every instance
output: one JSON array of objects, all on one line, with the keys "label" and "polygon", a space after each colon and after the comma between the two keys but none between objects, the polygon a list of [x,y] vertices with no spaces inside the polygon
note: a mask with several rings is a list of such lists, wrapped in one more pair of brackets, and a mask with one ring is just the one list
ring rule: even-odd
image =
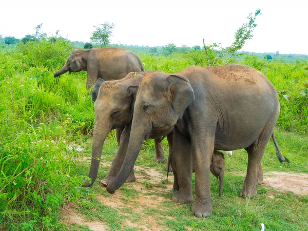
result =
[{"label": "small leafy tree against the sky above the rear elephant's back", "polygon": [[112,36],[113,23],[105,22],[100,24],[101,26],[93,26],[95,30],[90,37],[93,43],[99,43],[100,47],[106,47],[110,43],[110,37]]}]

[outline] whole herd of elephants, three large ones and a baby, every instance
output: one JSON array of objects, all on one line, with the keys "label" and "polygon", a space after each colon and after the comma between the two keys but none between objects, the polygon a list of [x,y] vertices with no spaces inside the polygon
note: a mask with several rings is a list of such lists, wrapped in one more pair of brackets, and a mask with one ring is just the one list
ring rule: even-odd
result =
[{"label": "whole herd of elephants, three large ones and a baby", "polygon": [[[158,162],[164,162],[166,136],[174,172],[172,201],[193,202],[192,172],[197,217],[212,213],[210,177],[224,179],[224,157],[216,150],[244,148],[248,153],[243,198],[257,195],[263,182],[261,159],[271,138],[280,162],[275,136],[280,104],[275,87],[259,71],[244,65],[191,66],[177,73],[145,71],[139,57],[119,48],[74,49],[64,67],[55,72],[87,71],[87,89],[93,87],[95,124],[92,158],[84,186],[97,178],[108,133],[117,129],[118,151],[108,175],[101,181],[113,194],[124,182],[135,181],[134,163],[145,139],[154,139]],[[170,165],[169,165],[170,163]]]}]

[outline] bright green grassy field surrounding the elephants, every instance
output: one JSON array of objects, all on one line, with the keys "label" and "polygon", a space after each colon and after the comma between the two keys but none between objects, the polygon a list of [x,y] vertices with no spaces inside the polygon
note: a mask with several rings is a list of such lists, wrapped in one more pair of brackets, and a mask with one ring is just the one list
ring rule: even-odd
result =
[{"label": "bright green grassy field surrounding the elephants", "polygon": [[[241,198],[247,165],[243,150],[225,155],[221,198],[219,182],[211,176],[213,215],[208,219],[192,216],[191,204],[171,201],[172,176],[165,182],[165,164],[153,161],[151,140],[137,159],[137,182],[109,195],[99,181],[117,150],[112,132],[104,145],[98,180],[93,187],[81,187],[89,170],[94,124],[86,72],[64,74],[59,81],[53,78],[71,50],[63,40],[0,50],[0,230],[260,230],[260,223],[266,230],[308,229],[307,195],[261,185],[253,200]],[[199,51],[138,55],[146,70],[176,72],[206,63]],[[307,61],[268,62],[253,55],[241,63],[262,71],[275,85],[281,103],[275,134],[291,163],[278,162],[270,141],[262,159],[264,175],[307,174]],[[167,156],[166,141],[164,147]]]}]

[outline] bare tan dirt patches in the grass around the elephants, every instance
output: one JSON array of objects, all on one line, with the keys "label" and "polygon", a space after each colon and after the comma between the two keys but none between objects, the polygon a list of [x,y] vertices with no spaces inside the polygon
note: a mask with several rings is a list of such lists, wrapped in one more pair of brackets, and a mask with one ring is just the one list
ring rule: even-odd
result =
[{"label": "bare tan dirt patches in the grass around the elephants", "polygon": [[[136,171],[137,170],[137,171]],[[111,206],[112,208],[119,209],[124,207],[131,208],[134,212],[138,213],[142,217],[140,222],[131,222],[125,219],[124,224],[129,227],[135,227],[139,230],[162,230],[165,227],[161,226],[155,217],[161,216],[160,214],[151,213],[149,211],[144,212],[144,208],[160,208],[161,203],[167,201],[168,199],[157,196],[157,195],[147,195],[149,192],[155,193],[160,192],[161,188],[157,187],[158,184],[165,179],[165,175],[162,173],[153,170],[153,169],[144,169],[140,166],[135,166],[135,175],[136,182],[127,183],[136,189],[140,194],[138,198],[134,199],[134,202],[124,203],[123,196],[121,195],[120,190],[116,191],[112,197],[104,197],[102,195],[98,196],[98,200],[102,204]],[[150,190],[145,187],[144,181],[148,180],[152,187]],[[173,182],[173,176],[169,175],[169,181]],[[277,188],[279,190],[289,190],[293,191],[298,195],[307,195],[308,194],[308,175],[307,174],[290,174],[286,172],[266,172],[264,174],[264,184]],[[167,184],[166,189],[170,191],[172,189],[172,184]],[[175,204],[175,206],[177,206]],[[119,212],[120,213],[120,212]],[[78,210],[75,209],[74,204],[67,204],[63,209],[63,215],[66,217],[64,220],[65,224],[79,224],[88,226],[91,230],[101,231],[108,230],[106,223],[100,221],[88,221],[84,218],[83,215],[78,213]],[[125,214],[124,214],[125,215]],[[170,217],[169,219],[172,219]],[[188,227],[187,227],[188,229]]]}]

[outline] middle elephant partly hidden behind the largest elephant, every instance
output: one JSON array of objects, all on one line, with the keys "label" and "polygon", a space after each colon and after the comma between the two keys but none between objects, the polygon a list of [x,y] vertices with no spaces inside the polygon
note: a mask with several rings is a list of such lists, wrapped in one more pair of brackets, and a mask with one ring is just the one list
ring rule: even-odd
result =
[{"label": "middle elephant partly hidden behind the largest elephant", "polygon": [[[147,72],[131,72],[122,80],[104,82],[99,79],[97,83],[95,83],[92,92],[92,100],[95,101],[95,124],[92,140],[91,167],[88,175],[91,179],[91,183],[84,181],[84,186],[91,186],[97,178],[104,141],[111,129],[115,128],[121,128],[121,130],[123,130],[122,134],[120,133],[121,139],[117,137],[118,142],[120,140],[119,149],[111,163],[108,175],[101,181],[101,184],[107,186],[120,171],[127,151],[133,113],[132,109],[134,99],[136,98],[136,94],[131,94],[127,88],[131,85],[139,86],[146,73]],[[95,97],[93,97],[93,93]],[[167,138],[168,137],[169,136],[167,136]],[[160,140],[161,137],[157,136],[151,138],[156,138],[154,140],[156,150],[155,160],[157,162],[164,162],[165,156],[163,145]],[[170,138],[168,138],[168,140],[170,140]],[[172,144],[169,143],[169,148],[171,147]],[[125,180],[126,182],[136,180],[133,170],[131,170],[129,176]]]}]

